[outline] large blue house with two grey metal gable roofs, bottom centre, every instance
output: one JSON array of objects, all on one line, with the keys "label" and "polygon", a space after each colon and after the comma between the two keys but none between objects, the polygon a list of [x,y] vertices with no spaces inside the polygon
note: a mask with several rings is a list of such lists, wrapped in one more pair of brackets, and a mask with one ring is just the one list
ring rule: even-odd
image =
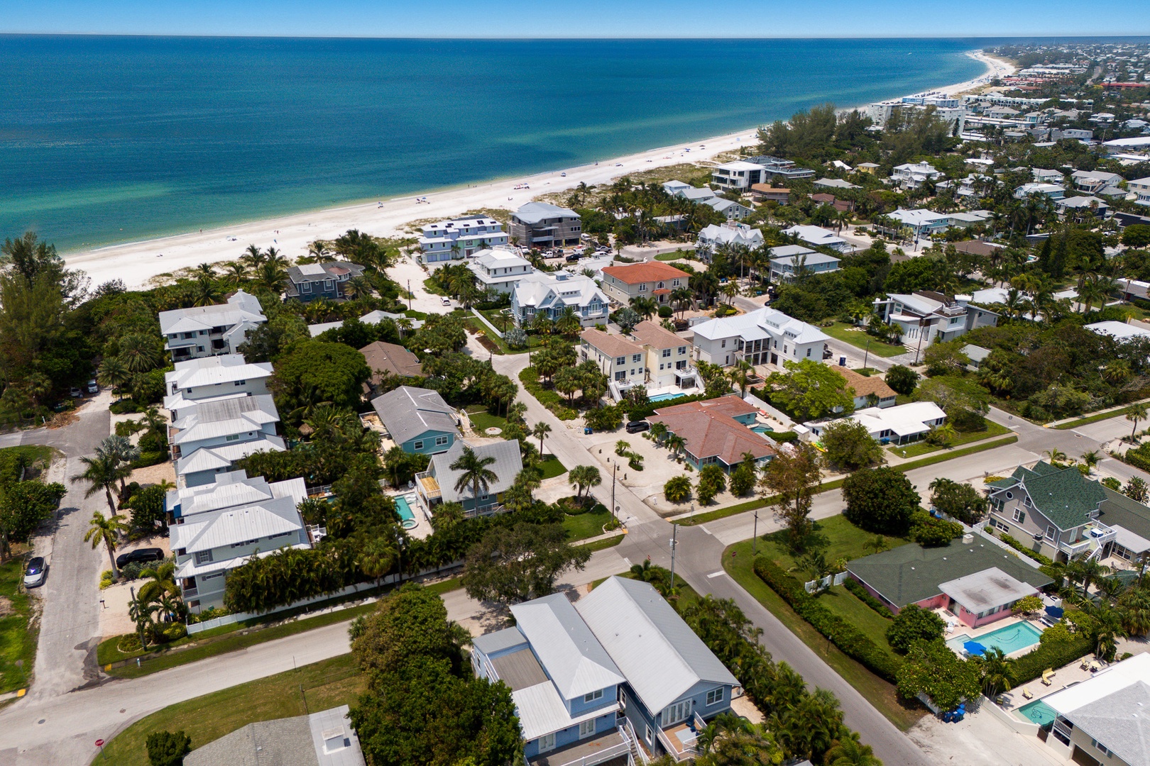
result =
[{"label": "large blue house with two grey metal gable roofs, bottom centre", "polygon": [[692,759],[743,693],[646,582],[613,577],[574,605],[555,594],[512,613],[515,627],[471,642],[471,663],[512,688],[528,766]]}]

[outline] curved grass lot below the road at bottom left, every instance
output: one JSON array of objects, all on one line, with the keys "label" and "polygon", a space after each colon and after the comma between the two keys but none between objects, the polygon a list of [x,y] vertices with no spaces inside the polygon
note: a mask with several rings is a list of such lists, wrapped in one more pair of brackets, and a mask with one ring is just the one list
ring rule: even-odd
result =
[{"label": "curved grass lot below the road at bottom left", "polygon": [[154,732],[183,730],[195,749],[256,721],[353,704],[365,687],[366,679],[351,655],[305,665],[152,713],[106,744],[93,764],[148,766],[145,742]]}]

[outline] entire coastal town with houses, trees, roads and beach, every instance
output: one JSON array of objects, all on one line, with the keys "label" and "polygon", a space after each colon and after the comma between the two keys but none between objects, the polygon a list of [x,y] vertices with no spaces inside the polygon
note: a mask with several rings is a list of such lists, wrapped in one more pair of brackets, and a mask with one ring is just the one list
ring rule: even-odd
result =
[{"label": "entire coastal town with houses, trees, roads and beach", "polygon": [[7,233],[0,764],[1150,764],[1150,45],[972,55],[322,225]]}]

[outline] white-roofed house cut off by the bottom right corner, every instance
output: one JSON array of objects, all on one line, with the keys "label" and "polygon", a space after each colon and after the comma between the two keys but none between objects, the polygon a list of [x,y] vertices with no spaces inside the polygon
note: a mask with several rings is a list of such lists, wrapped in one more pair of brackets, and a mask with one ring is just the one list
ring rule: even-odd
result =
[{"label": "white-roofed house cut off by the bottom right corner", "polygon": [[1046,746],[1067,763],[1150,764],[1150,655],[1138,653],[1042,698]]}]

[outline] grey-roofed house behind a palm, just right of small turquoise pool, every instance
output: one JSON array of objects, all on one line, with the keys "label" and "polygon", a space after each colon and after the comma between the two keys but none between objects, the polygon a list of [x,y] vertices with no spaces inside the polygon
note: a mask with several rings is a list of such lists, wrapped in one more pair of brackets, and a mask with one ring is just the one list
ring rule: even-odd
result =
[{"label": "grey-roofed house behind a palm, just right of small turquoise pool", "polygon": [[[463,473],[451,466],[462,456],[465,447],[470,448],[480,458],[494,458],[486,467],[496,478],[485,488],[481,483],[478,495],[471,485],[455,487]],[[515,477],[522,470],[523,458],[519,451],[519,441],[514,439],[488,444],[470,444],[459,440],[446,452],[434,456],[427,471],[415,474],[415,495],[429,518],[440,503],[459,503],[467,516],[486,516],[503,510],[503,494],[515,482]]]}]

